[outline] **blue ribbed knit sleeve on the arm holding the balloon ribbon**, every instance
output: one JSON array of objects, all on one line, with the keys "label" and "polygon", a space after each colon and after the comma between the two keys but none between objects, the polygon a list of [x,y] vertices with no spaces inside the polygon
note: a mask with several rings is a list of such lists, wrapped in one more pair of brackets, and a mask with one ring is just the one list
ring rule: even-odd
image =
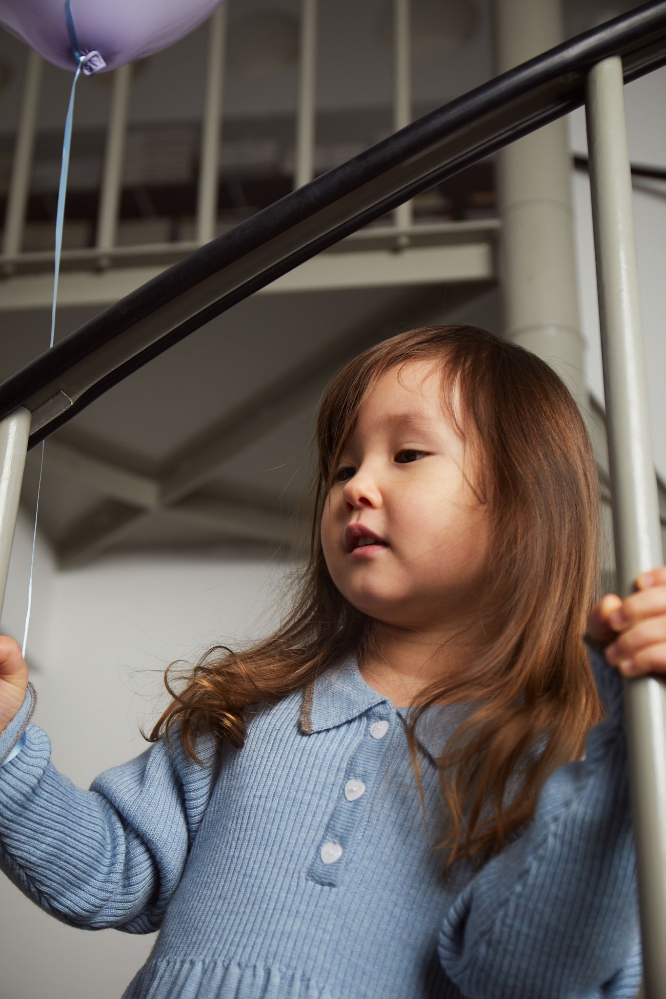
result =
[{"label": "blue ribbed knit sleeve on the arm holding the balloon ribbon", "polygon": [[[21,711],[28,710],[24,704]],[[177,731],[173,753],[161,739],[84,791],[50,762],[41,728],[29,725],[26,737],[0,767],[0,868],[70,925],[158,929],[206,810],[215,765],[194,763]],[[198,752],[204,764],[215,764],[211,734],[199,739]]]}]

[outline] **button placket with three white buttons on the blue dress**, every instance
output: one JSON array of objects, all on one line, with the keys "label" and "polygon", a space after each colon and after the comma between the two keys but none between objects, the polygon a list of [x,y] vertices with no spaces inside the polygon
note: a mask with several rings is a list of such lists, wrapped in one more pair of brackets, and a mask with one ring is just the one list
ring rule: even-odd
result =
[{"label": "button placket with three white buttons on the blue dress", "polygon": [[[385,705],[379,710],[385,713]],[[378,713],[378,712],[377,712]],[[333,811],[320,841],[317,854],[308,871],[308,878],[319,884],[340,883],[353,850],[362,839],[367,825],[373,791],[383,774],[382,760],[390,738],[390,722],[372,712],[353,719],[359,728],[355,752],[349,757]]]}]

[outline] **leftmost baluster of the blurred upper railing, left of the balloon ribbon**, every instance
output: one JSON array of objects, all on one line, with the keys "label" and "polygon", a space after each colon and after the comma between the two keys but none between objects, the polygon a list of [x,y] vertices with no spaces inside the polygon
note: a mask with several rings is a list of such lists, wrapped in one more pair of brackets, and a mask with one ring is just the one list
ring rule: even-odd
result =
[{"label": "leftmost baluster of the blurred upper railing, left of the balloon ribbon", "polygon": [[[42,83],[44,60],[34,49],[28,49],[19,108],[16,147],[12,161],[12,175],[9,181],[5,232],[2,240],[2,253],[5,257],[15,257],[21,251],[25,210],[30,191],[32,154],[35,148],[37,113],[39,111],[39,91]],[[4,268],[11,271],[11,265]]]}]

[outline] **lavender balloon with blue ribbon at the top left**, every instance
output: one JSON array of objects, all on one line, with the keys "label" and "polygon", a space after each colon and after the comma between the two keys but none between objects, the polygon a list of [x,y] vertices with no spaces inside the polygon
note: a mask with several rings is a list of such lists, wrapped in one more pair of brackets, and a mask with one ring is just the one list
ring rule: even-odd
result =
[{"label": "lavender balloon with blue ribbon at the top left", "polygon": [[[82,67],[90,76],[116,69],[173,45],[210,17],[221,0],[71,0]],[[0,24],[55,66],[74,72],[77,61],[65,0],[0,0]]]}]

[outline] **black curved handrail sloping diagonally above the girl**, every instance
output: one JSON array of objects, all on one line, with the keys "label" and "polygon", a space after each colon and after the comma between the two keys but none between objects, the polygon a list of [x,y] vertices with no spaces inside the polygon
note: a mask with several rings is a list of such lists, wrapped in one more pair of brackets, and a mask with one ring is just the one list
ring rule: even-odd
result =
[{"label": "black curved handrail sloping diagonally above the girl", "polygon": [[458,97],[281,198],[121,299],[0,385],[33,448],[214,317],[446,177],[584,102],[595,63],[625,82],[666,64],[666,0],[578,35]]}]

